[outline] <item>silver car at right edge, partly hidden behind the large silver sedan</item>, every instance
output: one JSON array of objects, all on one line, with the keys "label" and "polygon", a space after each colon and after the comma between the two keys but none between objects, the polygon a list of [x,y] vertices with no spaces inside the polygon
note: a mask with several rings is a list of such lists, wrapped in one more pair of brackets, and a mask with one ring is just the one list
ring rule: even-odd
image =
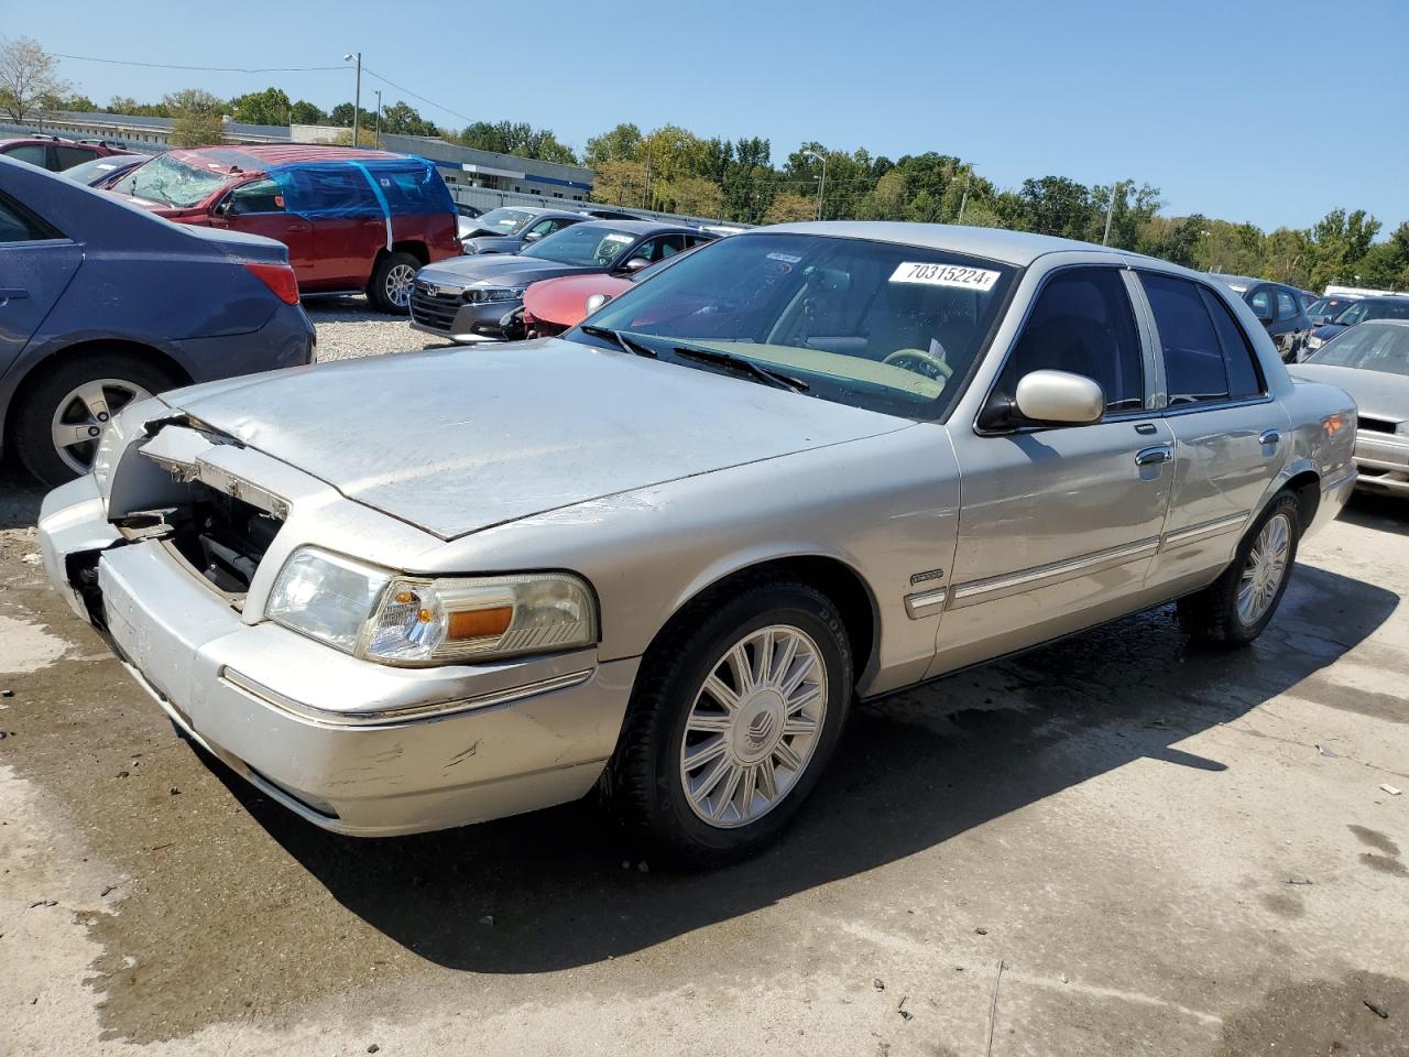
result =
[{"label": "silver car at right edge, partly hidden behind the large silver sedan", "polygon": [[1409,320],[1360,323],[1292,373],[1339,385],[1354,397],[1360,483],[1409,496]]}]

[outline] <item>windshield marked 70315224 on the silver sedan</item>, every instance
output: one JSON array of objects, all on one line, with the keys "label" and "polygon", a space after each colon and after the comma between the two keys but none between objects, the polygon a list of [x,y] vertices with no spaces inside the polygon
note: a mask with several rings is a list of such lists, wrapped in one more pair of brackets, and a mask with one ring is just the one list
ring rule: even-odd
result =
[{"label": "windshield marked 70315224 on the silver sedan", "polygon": [[679,357],[674,344],[707,348],[792,375],[809,396],[938,419],[1016,273],[943,249],[747,234],[702,247],[609,302],[592,324],[630,334],[671,362],[713,369]]}]

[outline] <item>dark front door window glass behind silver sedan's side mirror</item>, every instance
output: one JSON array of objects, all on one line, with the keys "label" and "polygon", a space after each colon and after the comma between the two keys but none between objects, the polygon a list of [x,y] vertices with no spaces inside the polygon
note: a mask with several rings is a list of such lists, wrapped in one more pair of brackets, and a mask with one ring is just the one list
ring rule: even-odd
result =
[{"label": "dark front door window glass behind silver sedan's side mirror", "polygon": [[1003,368],[999,392],[1012,396],[1033,371],[1068,371],[1098,382],[1110,412],[1144,406],[1140,338],[1124,282],[1115,268],[1058,272],[1043,288]]}]

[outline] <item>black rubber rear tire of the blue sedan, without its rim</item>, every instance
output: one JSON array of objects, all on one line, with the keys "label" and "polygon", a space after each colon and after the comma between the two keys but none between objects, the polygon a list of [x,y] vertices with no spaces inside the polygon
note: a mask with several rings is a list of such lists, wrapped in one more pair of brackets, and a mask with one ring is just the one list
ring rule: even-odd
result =
[{"label": "black rubber rear tire of the blue sedan, without its rim", "polygon": [[[13,438],[25,469],[49,488],[79,476],[79,471],[59,455],[51,428],[59,402],[69,393],[86,382],[118,379],[155,395],[175,388],[180,381],[165,368],[125,351],[94,350],[72,359],[59,359],[54,366],[41,365],[38,372],[34,385],[27,385],[20,395]],[[116,406],[111,413],[118,410],[121,407]],[[87,451],[79,450],[75,454]]]}]

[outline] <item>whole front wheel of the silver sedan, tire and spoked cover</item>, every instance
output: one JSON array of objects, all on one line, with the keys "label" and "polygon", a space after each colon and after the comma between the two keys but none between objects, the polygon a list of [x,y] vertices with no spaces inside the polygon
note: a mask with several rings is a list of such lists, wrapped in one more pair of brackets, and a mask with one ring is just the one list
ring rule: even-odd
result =
[{"label": "whole front wheel of the silver sedan, tire and spoked cover", "polygon": [[609,802],[675,865],[748,855],[817,784],[851,693],[851,645],[826,595],[761,581],[707,596],[643,662]]}]

